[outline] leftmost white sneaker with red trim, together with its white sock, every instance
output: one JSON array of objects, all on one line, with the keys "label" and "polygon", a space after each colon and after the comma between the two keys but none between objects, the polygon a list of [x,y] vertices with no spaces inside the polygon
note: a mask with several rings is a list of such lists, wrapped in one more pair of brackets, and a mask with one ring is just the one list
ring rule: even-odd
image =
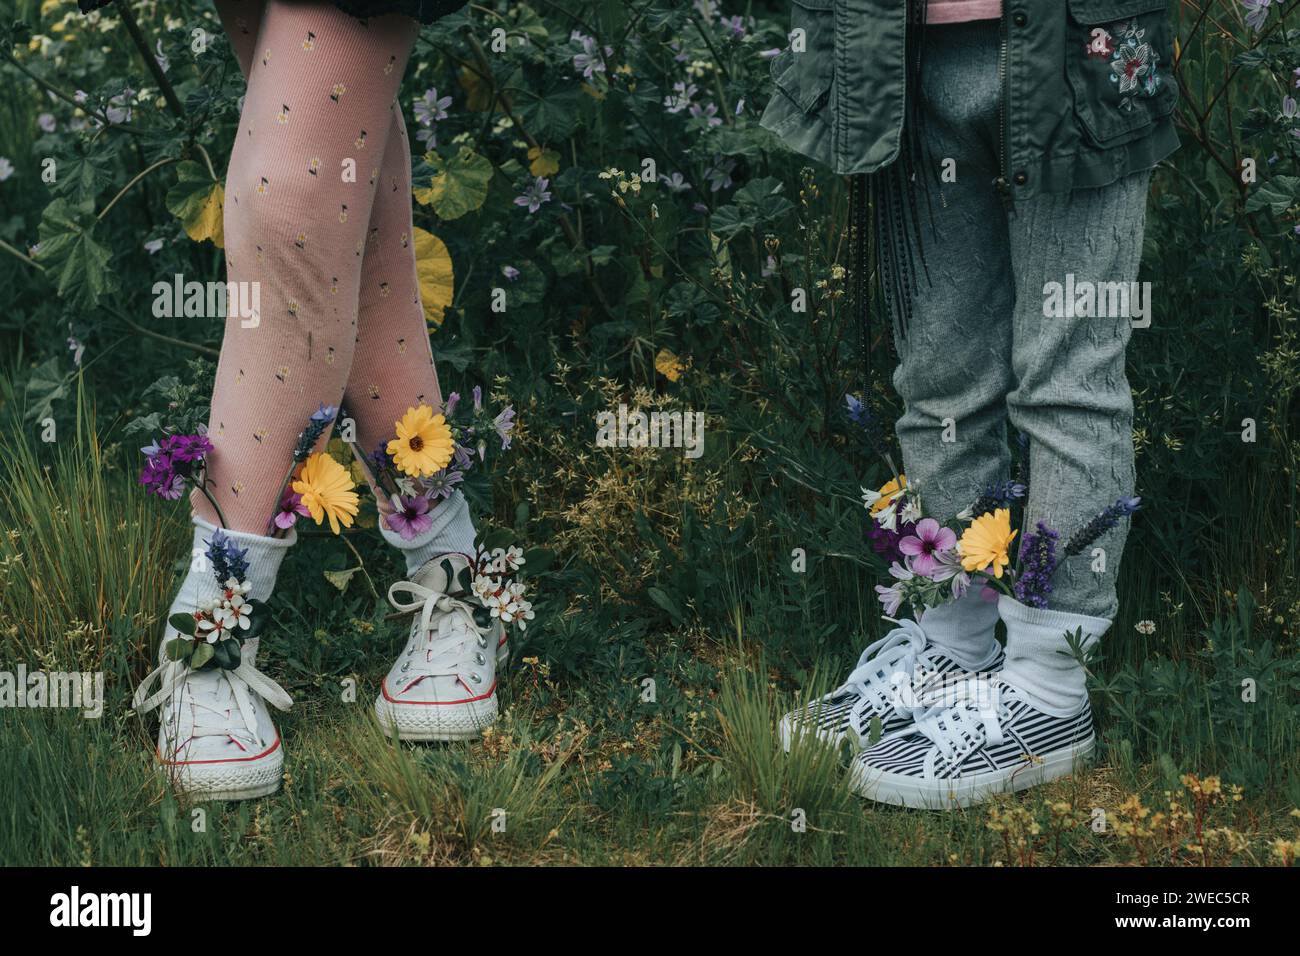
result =
[{"label": "leftmost white sneaker with red trim, together with its white sock", "polygon": [[[217,528],[202,520],[194,524],[194,548],[202,553]],[[247,588],[247,597],[266,600],[280,562],[296,535],[270,538],[224,533],[246,557],[248,567],[243,587]],[[168,618],[211,607],[225,594],[212,571],[191,570],[172,602]],[[196,640],[204,640],[203,633],[200,631]],[[179,632],[168,623],[159,645],[159,666],[136,688],[133,701],[139,714],[159,709],[155,753],[159,770],[178,791],[200,800],[248,800],[274,793],[280,788],[285,750],[268,704],[289,710],[292,700],[280,684],[256,669],[259,639],[243,641],[238,667],[209,666],[195,671],[166,656],[166,645],[178,636]]]}]

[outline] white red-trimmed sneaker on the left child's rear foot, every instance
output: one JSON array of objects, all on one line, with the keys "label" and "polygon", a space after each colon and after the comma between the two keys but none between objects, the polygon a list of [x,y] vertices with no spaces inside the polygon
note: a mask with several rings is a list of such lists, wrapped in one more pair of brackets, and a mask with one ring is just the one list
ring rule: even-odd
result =
[{"label": "white red-trimmed sneaker on the left child's rear foot", "polygon": [[497,721],[497,667],[510,650],[502,623],[480,627],[473,605],[463,600],[469,596],[456,578],[471,566],[469,555],[442,554],[412,580],[389,588],[393,606],[416,617],[374,700],[385,734],[396,731],[402,740],[468,740]]}]

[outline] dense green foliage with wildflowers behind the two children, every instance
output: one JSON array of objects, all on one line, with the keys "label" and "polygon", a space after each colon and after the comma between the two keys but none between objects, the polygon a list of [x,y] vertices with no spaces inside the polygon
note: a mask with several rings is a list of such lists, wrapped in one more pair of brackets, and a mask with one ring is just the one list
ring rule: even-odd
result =
[{"label": "dense green foliage with wildflowers behind the two children", "polygon": [[[1300,803],[1296,7],[1274,3],[1254,30],[1235,0],[1174,4],[1184,146],[1154,177],[1141,278],[1156,315],[1130,351],[1144,509],[1095,679],[1122,788],[1217,773],[1245,786],[1265,816]],[[178,213],[220,178],[243,82],[208,4],[131,4],[144,49],[116,9],[87,20],[68,0],[0,3],[0,156],[13,166],[0,182],[0,659],[30,659],[35,648],[51,666],[103,666],[125,708],[172,566],[151,570],[136,551],[117,585],[69,598],[32,584],[61,558],[42,558],[40,571],[25,536],[74,550],[87,536],[117,536],[179,557],[168,541],[179,542],[183,516],[143,501],[134,449],[162,423],[203,420],[221,326],[155,319],[151,290],[173,273],[224,276],[220,250],[192,241]],[[563,731],[589,757],[569,799],[593,819],[618,810],[628,832],[637,829],[627,821],[698,809],[719,779],[745,779],[728,754],[753,737],[737,743],[738,718],[719,723],[719,695],[734,717],[750,696],[790,693],[815,670],[842,670],[880,627],[871,584],[883,568],[864,548],[858,486],[884,471],[842,416],[844,393],[861,388],[840,268],[846,187],[758,126],[770,95],[763,51],[784,46],[785,29],[775,0],[489,0],[421,33],[400,95],[412,130],[416,99],[452,98],[415,182],[417,195],[436,178],[445,187],[416,208],[416,225],[455,265],[452,306],[432,332],[443,385],[484,384],[521,420],[481,523],[556,557],[516,652],[530,662],[508,693],[537,740]],[[202,53],[195,30],[208,36]],[[577,75],[575,31],[608,51],[607,69]],[[161,77],[148,68],[153,55],[168,61]],[[702,112],[666,109],[677,83],[694,87]],[[550,202],[529,213],[515,198],[538,156],[556,168]],[[49,157],[55,183],[42,179]],[[632,183],[647,157],[658,182]],[[504,312],[490,308],[494,286],[508,290]],[[796,287],[809,290],[805,313],[790,310]],[[879,369],[888,343],[874,349]],[[680,375],[656,369],[664,350]],[[894,401],[885,381],[874,388]],[[595,449],[595,415],[619,402],[703,411],[703,458]],[[68,437],[42,442],[47,418]],[[1243,441],[1247,419],[1253,441]],[[78,497],[87,481],[94,494]],[[124,522],[70,516],[84,519],[95,496]],[[393,644],[364,587],[382,589],[391,558],[373,533],[350,540],[368,574],[343,593],[318,574],[356,563],[341,541],[312,538],[299,549],[312,557],[286,568],[282,591],[300,600],[277,611],[285,637],[272,667],[300,698],[382,672]],[[790,568],[796,548],[806,572]],[[1135,628],[1143,620],[1153,633]],[[727,678],[737,666],[767,679],[742,693]],[[647,675],[658,701],[642,708]],[[1258,682],[1258,705],[1240,700],[1245,678]],[[147,730],[114,732],[138,736],[143,754]],[[526,761],[493,765],[488,779],[514,773],[526,777]],[[736,800],[755,805],[737,787],[715,800],[727,813]],[[411,795],[411,819],[428,799]],[[712,823],[702,826],[693,839],[705,845]],[[8,845],[47,860],[121,852],[108,838],[42,839]],[[462,832],[448,852],[476,839]],[[985,860],[983,839],[954,838],[954,852]],[[402,858],[410,845],[398,844]],[[931,832],[913,861],[944,861],[950,845]],[[571,849],[588,858],[589,848]]]}]

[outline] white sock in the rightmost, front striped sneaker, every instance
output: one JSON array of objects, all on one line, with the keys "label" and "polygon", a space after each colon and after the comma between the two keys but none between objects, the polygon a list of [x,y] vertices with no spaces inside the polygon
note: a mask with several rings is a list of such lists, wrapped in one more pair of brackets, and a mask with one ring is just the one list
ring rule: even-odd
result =
[{"label": "white sock in the rightmost, front striped sneaker", "polygon": [[1045,714],[1078,714],[1088,702],[1087,675],[1065,635],[1082,628],[1082,645],[1088,650],[1110,622],[1087,614],[1027,607],[1006,594],[998,598],[997,610],[1006,624],[1006,665],[1000,679]]}]

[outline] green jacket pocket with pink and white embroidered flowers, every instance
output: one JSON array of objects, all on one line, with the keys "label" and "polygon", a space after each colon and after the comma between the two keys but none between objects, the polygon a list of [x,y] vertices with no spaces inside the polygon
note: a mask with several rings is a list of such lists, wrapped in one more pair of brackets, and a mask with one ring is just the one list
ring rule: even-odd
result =
[{"label": "green jacket pocket with pink and white embroidered flowers", "polygon": [[1088,138],[1121,146],[1174,112],[1169,0],[1069,0],[1066,74]]}]

